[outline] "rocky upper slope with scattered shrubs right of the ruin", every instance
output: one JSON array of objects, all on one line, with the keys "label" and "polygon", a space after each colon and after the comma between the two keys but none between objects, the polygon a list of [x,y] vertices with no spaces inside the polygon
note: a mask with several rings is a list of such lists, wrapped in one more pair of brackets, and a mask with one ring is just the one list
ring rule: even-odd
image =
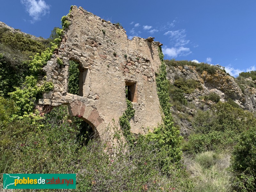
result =
[{"label": "rocky upper slope with scattered shrubs right of the ruin", "polygon": [[[251,77],[234,78],[223,67],[205,63],[175,60],[165,60],[165,63],[174,123],[183,136],[193,130],[191,119],[197,110],[206,111],[218,101],[233,100],[244,110],[256,111],[256,81]],[[190,86],[190,91],[186,86]],[[179,91],[183,96],[177,97]]]}]

